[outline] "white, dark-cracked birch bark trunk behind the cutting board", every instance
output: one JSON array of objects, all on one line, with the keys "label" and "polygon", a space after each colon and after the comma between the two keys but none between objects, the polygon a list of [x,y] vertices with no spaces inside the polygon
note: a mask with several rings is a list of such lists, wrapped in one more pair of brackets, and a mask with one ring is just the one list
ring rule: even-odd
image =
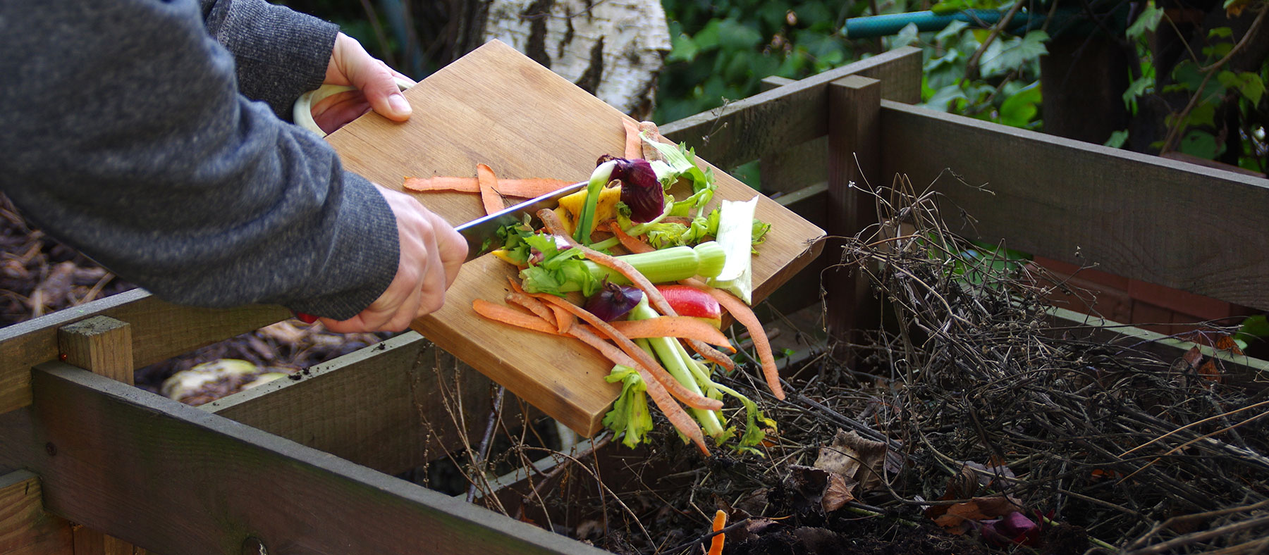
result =
[{"label": "white, dark-cracked birch bark trunk behind the cutting board", "polygon": [[651,115],[670,51],[659,0],[492,0],[483,38],[525,52],[638,119]]}]

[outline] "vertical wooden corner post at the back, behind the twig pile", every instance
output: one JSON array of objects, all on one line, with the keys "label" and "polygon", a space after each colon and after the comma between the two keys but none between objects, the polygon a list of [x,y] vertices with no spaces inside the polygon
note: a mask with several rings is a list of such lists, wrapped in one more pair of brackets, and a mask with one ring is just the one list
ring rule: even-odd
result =
[{"label": "vertical wooden corner post at the back, behind the twig pile", "polygon": [[[840,237],[853,237],[877,222],[873,196],[881,184],[881,81],[851,75],[829,85],[829,264],[840,258]],[[839,237],[834,241],[832,237]],[[831,247],[839,248],[831,248]],[[867,321],[868,280],[850,269],[825,274],[829,333],[851,333]]]}]

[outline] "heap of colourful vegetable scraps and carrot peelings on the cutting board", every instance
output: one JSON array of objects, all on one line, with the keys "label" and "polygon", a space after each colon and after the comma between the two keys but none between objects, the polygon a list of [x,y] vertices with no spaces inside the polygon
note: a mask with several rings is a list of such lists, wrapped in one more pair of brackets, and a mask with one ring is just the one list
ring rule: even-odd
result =
[{"label": "heap of colourful vegetable scraps and carrot peelings on the cutting board", "polygon": [[[536,214],[541,228],[525,220],[499,231],[494,255],[514,265],[519,279],[503,299],[508,304],[478,299],[472,309],[506,326],[576,338],[612,361],[607,379],[621,383],[622,393],[604,424],[624,445],[647,441],[651,399],[684,442],[703,454],[709,454],[706,436],[714,446],[760,454],[756,447],[774,431],[774,421],[718,381],[736,362],[713,346],[736,352],[720,331],[723,307],[740,322],[758,322],[745,286],[754,246],[770,226],[754,219],[756,198],[735,203],[740,209],[723,201],[707,212],[717,185],[692,150],[664,143],[655,125],[623,122],[623,131],[626,156],[602,156],[585,190]],[[495,209],[495,200],[501,208],[508,181],[486,165],[477,166],[477,175],[475,189],[459,177],[411,179],[406,188],[480,193],[486,210]],[[692,193],[675,200],[669,191],[676,185]],[[742,297],[700,281],[720,275],[721,285]],[[681,280],[697,286],[676,284]],[[720,295],[730,302],[720,303]],[[770,360],[769,345],[755,345],[760,360]],[[775,367],[764,364],[763,370],[774,374]],[[765,380],[783,398],[778,378]],[[725,409],[726,398],[739,407]],[[741,411],[744,419],[730,423]]]}]

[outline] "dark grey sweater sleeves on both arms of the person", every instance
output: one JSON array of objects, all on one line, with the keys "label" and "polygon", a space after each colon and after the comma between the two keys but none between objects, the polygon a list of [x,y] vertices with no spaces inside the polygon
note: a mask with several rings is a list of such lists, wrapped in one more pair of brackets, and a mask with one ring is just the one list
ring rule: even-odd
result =
[{"label": "dark grey sweater sleeves on both arms of the person", "polygon": [[46,232],[184,304],[343,319],[392,280],[383,196],[274,114],[321,81],[329,25],[261,0],[4,0],[0,37],[0,189]]}]

